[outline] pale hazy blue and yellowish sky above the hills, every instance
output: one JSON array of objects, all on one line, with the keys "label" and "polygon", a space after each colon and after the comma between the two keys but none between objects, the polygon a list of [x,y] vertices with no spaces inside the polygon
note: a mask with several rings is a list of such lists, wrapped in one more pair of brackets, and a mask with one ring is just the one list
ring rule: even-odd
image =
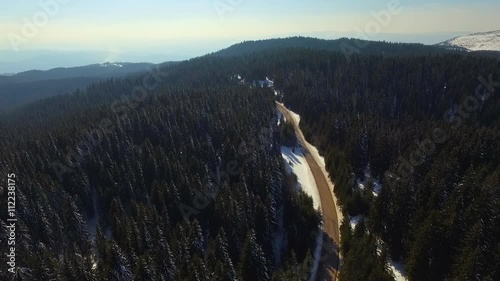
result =
[{"label": "pale hazy blue and yellowish sky above the hills", "polygon": [[499,10],[498,0],[5,1],[0,63],[41,50],[103,62],[179,60],[294,35],[434,44],[500,29]]}]

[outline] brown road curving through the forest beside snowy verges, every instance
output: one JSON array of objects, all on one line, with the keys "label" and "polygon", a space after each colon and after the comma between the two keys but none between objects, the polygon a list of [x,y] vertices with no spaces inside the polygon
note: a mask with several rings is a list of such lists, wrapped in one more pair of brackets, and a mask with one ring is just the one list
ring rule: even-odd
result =
[{"label": "brown road curving through the forest beside snowy verges", "polygon": [[287,121],[292,122],[297,138],[305,149],[305,158],[309,164],[309,168],[314,176],[318,192],[321,200],[321,212],[323,214],[323,246],[321,250],[321,259],[318,268],[316,280],[318,281],[331,281],[337,280],[339,269],[339,253],[338,246],[340,243],[339,223],[337,216],[337,208],[333,200],[330,187],[325,173],[317,160],[310,153],[310,144],[305,140],[299,124],[296,124],[290,111],[282,104],[277,103],[278,110],[283,113]]}]

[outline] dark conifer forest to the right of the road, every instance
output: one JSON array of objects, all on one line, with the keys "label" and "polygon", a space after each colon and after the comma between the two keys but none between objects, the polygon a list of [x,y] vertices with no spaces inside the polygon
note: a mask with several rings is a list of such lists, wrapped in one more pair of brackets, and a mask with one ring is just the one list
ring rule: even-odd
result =
[{"label": "dark conifer forest to the right of the road", "polygon": [[247,69],[268,70],[285,104],[301,115],[345,212],[364,217],[355,230],[344,222],[342,280],[386,280],[389,258],[404,262],[410,280],[500,279],[497,61],[348,62],[311,50],[248,61]]}]

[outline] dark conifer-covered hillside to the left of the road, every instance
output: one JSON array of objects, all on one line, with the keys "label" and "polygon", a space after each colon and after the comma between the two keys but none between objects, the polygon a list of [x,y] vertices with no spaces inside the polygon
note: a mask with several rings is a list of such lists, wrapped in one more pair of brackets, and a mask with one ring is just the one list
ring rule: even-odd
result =
[{"label": "dark conifer-covered hillside to the left of the road", "polygon": [[274,95],[220,64],[163,69],[141,95],[128,93],[143,76],[100,82],[2,119],[14,280],[308,279],[319,215],[284,172]]}]

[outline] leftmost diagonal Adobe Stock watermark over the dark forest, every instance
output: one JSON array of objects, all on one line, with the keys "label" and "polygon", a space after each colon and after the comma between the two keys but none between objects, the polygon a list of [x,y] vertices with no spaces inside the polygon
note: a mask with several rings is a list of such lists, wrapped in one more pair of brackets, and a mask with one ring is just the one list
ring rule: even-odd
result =
[{"label": "leftmost diagonal Adobe Stock watermark over the dark forest", "polygon": [[128,114],[143,103],[151,91],[158,87],[162,81],[162,77],[167,77],[168,73],[161,72],[159,67],[155,69],[147,67],[148,73],[143,77],[142,84],[135,86],[128,95],[122,95],[120,99],[115,100],[111,104],[111,111],[116,117],[116,124],[110,118],[103,118],[99,122],[97,128],[86,132],[80,142],[73,147],[67,146],[67,153],[62,162],[52,162],[52,170],[54,171],[59,182],[64,181],[64,175],[73,173],[78,169],[85,157],[92,155],[94,150],[102,143],[104,135],[110,134],[114,126],[125,122]]}]

